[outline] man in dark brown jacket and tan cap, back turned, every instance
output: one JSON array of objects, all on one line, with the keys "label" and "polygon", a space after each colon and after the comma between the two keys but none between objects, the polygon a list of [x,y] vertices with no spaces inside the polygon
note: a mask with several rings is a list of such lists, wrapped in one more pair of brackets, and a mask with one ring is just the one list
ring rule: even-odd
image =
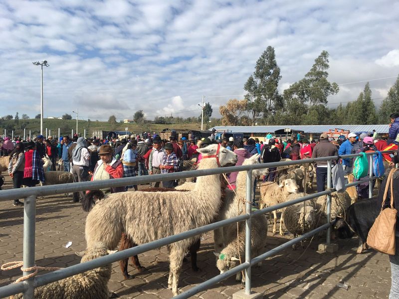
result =
[{"label": "man in dark brown jacket and tan cap, back turned", "polygon": [[[328,141],[328,135],[323,133],[320,135],[320,142],[314,147],[312,158],[321,158],[338,155],[337,147]],[[316,184],[317,192],[324,191],[327,181],[327,161],[318,161],[316,166]]]}]

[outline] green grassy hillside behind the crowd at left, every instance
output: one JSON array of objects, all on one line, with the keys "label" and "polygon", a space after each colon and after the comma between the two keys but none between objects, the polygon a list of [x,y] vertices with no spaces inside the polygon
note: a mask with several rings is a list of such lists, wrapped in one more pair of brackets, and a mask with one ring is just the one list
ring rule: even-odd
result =
[{"label": "green grassy hillside behind the crowd at left", "polygon": [[[29,135],[29,130],[32,135],[38,135],[40,131],[40,119],[29,119],[19,120],[17,123],[15,120],[4,121],[0,120],[0,134],[4,134],[4,129],[7,130],[7,135],[11,135],[11,130],[14,130],[14,136],[22,136],[23,128],[26,130],[26,135]],[[58,135],[58,128],[60,128],[61,135],[71,134],[73,129],[76,131],[76,120],[58,120],[58,119],[44,119],[43,120],[43,131],[45,128],[51,130],[51,135]],[[133,133],[142,132],[159,132],[163,129],[186,129],[186,130],[200,130],[201,123],[179,123],[179,124],[123,124],[116,123],[110,124],[108,122],[99,121],[78,121],[78,133],[83,135],[83,131],[86,129],[86,136],[91,136],[93,131],[128,131]]]}]

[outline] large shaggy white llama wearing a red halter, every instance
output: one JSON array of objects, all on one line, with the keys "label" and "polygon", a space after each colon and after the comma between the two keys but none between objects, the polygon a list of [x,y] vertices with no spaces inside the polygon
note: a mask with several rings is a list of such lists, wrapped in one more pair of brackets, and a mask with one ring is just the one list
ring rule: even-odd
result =
[{"label": "large shaggy white llama wearing a red halter", "polygon": [[[203,156],[199,169],[230,166],[237,155],[220,145],[197,149]],[[218,157],[218,161],[216,160]],[[219,175],[205,175],[197,179],[195,189],[187,192],[129,191],[110,194],[89,212],[86,218],[87,248],[101,241],[113,249],[122,232],[135,244],[144,244],[179,234],[212,222],[220,208]],[[178,295],[179,276],[183,257],[198,237],[190,237],[170,244],[168,288]]]}]

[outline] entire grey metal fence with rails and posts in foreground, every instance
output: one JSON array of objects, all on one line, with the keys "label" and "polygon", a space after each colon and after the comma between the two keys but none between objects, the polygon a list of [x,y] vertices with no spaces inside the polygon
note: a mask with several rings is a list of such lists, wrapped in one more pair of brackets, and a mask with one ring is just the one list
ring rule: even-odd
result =
[{"label": "entire grey metal fence with rails and posts in foreground", "polygon": [[[395,150],[384,151],[384,153],[392,153]],[[369,158],[369,181],[376,179],[373,177],[373,165],[372,165],[372,155],[373,152],[366,153],[370,156]],[[343,155],[342,158],[352,158],[360,156],[360,154],[350,154]],[[200,285],[185,291],[184,293],[178,295],[176,298],[189,298],[201,291],[208,289],[210,286],[223,281],[224,279],[233,276],[234,274],[245,270],[245,294],[250,295],[251,293],[251,266],[256,265],[260,261],[271,257],[278,253],[281,250],[284,250],[293,244],[296,244],[308,237],[311,237],[322,230],[327,229],[327,240],[326,243],[330,243],[330,235],[331,235],[331,193],[335,191],[332,188],[332,180],[331,180],[331,169],[333,160],[339,159],[340,156],[330,156],[323,158],[310,158],[304,160],[296,160],[296,161],[283,161],[283,162],[273,162],[273,163],[261,163],[261,164],[253,164],[253,165],[245,165],[245,166],[232,166],[232,167],[223,167],[223,168],[215,168],[215,169],[202,169],[202,170],[192,170],[192,171],[184,171],[184,172],[175,172],[168,174],[156,174],[156,175],[147,175],[147,176],[136,176],[131,178],[120,178],[120,179],[112,179],[107,181],[92,181],[92,182],[78,182],[78,183],[69,183],[62,185],[50,185],[50,186],[40,186],[40,187],[31,187],[24,189],[8,189],[0,191],[0,200],[2,199],[14,199],[14,198],[24,198],[24,220],[23,220],[23,268],[30,268],[35,265],[35,216],[36,216],[36,198],[38,196],[46,196],[46,195],[54,195],[54,194],[63,194],[67,192],[76,192],[80,190],[94,190],[104,187],[119,187],[125,185],[134,185],[134,184],[146,184],[155,181],[163,181],[163,180],[172,180],[172,179],[180,179],[187,177],[197,177],[203,175],[210,174],[220,174],[220,173],[228,173],[233,171],[246,171],[247,172],[247,184],[246,184],[246,213],[239,215],[234,218],[222,220],[219,222],[211,223],[199,228],[192,229],[190,231],[186,231],[177,235],[169,236],[166,238],[162,238],[150,243],[142,244],[134,248],[126,249],[112,255],[104,256],[89,262],[77,264],[74,266],[70,266],[61,270],[57,270],[48,274],[35,276],[24,280],[19,283],[9,284],[7,286],[0,288],[0,298],[4,298],[7,296],[11,296],[18,293],[24,293],[23,298],[33,298],[34,288],[79,274],[85,271],[95,269],[101,266],[105,266],[107,264],[119,261],[121,259],[125,259],[149,250],[153,250],[159,248],[161,246],[165,246],[195,235],[199,235],[216,228],[220,228],[232,223],[236,223],[238,221],[245,220],[245,262],[240,264],[239,266],[230,269],[220,275],[213,277],[210,280],[207,280]],[[297,164],[305,164],[305,163],[314,163],[317,161],[328,161],[328,176],[327,176],[327,190],[319,193],[309,194],[307,196],[297,198],[288,202],[284,202],[278,205],[270,206],[258,211],[251,211],[251,199],[252,199],[252,170],[253,169],[262,169],[268,167],[276,167],[276,166],[287,166],[287,165],[297,165]],[[364,181],[362,181],[364,182]],[[347,184],[346,186],[355,186],[360,183],[353,182]],[[372,196],[372,184],[369,184],[369,195]],[[312,198],[319,197],[321,195],[327,195],[327,223],[301,235],[295,239],[292,239],[274,249],[271,249],[262,255],[251,259],[251,248],[250,248],[250,240],[251,240],[251,218],[256,215],[265,214],[267,212],[271,212],[274,210],[278,210],[284,207],[287,207],[292,204],[300,203],[305,200],[309,200]],[[266,228],[267,229],[267,228]],[[26,271],[23,272],[23,275],[29,275],[33,272]]]}]

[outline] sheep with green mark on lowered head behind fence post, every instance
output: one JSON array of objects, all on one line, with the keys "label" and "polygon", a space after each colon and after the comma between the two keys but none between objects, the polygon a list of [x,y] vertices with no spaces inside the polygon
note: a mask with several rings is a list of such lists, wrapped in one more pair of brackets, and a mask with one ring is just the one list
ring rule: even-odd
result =
[{"label": "sheep with green mark on lowered head behind fence post", "polygon": [[[251,258],[257,257],[266,251],[266,235],[268,222],[266,215],[258,215],[252,217],[251,221]],[[214,253],[218,257],[216,267],[220,274],[237,266],[239,257],[245,259],[245,221],[238,223],[238,240],[237,226],[230,225],[227,229],[225,247],[220,254]],[[238,243],[237,243],[238,242]],[[237,253],[239,248],[239,254]],[[261,263],[258,264],[260,266]],[[237,273],[236,281],[242,281],[241,272]]]}]

